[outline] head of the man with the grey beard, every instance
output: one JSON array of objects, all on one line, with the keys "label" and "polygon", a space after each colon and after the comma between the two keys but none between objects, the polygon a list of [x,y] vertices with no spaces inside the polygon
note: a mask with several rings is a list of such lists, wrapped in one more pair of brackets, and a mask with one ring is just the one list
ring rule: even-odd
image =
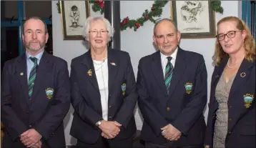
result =
[{"label": "head of the man with the grey beard", "polygon": [[30,54],[36,54],[44,50],[48,37],[44,23],[40,19],[29,19],[24,24],[22,39],[26,46],[26,51]]}]

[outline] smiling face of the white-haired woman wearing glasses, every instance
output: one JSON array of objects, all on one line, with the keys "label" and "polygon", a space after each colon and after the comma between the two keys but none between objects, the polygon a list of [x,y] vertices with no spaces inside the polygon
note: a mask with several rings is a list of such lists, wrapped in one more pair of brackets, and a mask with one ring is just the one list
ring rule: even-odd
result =
[{"label": "smiling face of the white-haired woman wearing glasses", "polygon": [[93,49],[105,49],[108,43],[108,31],[104,21],[92,21],[89,29],[89,39]]}]

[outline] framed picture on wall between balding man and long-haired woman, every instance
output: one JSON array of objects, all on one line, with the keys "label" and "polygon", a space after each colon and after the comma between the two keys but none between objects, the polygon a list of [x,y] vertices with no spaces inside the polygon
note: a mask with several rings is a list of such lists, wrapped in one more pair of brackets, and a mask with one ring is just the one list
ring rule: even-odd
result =
[{"label": "framed picture on wall between balding man and long-haired woman", "polygon": [[215,12],[210,1],[171,1],[171,18],[183,39],[215,38]]}]

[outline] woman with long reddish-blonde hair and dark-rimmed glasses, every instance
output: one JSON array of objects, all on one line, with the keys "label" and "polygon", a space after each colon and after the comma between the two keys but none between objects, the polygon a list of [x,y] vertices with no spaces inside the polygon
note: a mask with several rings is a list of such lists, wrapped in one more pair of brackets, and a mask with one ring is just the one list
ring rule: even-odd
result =
[{"label": "woman with long reddish-blonde hair and dark-rimmed glasses", "polygon": [[235,16],[216,37],[205,147],[255,147],[255,39]]}]

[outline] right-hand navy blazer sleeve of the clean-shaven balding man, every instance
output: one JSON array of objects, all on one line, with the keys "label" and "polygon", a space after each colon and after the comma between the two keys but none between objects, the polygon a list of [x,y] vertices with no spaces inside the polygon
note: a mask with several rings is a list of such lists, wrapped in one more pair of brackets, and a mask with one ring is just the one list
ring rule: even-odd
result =
[{"label": "right-hand navy blazer sleeve of the clean-shaven balding man", "polygon": [[195,89],[192,92],[192,97],[189,99],[186,107],[182,109],[182,112],[174,119],[171,124],[182,132],[187,134],[189,129],[202,115],[207,103],[207,70],[205,66],[205,60],[200,56],[199,64],[195,74]]}]

